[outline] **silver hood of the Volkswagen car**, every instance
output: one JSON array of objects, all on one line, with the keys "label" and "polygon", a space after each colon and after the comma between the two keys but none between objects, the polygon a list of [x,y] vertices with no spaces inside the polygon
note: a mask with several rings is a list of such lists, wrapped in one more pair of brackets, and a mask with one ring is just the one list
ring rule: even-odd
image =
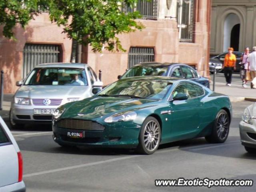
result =
[{"label": "silver hood of the Volkswagen car", "polygon": [[[26,98],[85,98],[89,92],[88,86],[65,86],[65,85],[25,85],[21,86],[15,97]],[[88,95],[91,96],[91,95]]]}]

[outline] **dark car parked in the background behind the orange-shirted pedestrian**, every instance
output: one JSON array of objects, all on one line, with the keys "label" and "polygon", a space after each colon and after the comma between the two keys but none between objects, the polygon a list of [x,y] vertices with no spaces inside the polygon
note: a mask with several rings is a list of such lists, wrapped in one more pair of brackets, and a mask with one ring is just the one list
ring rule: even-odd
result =
[{"label": "dark car parked in the background behind the orange-shirted pedestrian", "polygon": [[[214,57],[210,58],[210,60],[209,60],[209,69],[210,69],[210,71],[214,68],[216,68],[217,70],[220,70],[222,68],[222,66],[224,64],[225,55],[227,53],[228,52],[224,52],[222,54],[219,54],[217,56],[214,56]],[[235,70],[235,72],[240,72],[240,66],[241,65],[239,63],[241,62],[241,57],[242,57],[243,52],[234,51],[233,54],[236,55],[236,70]]]}]

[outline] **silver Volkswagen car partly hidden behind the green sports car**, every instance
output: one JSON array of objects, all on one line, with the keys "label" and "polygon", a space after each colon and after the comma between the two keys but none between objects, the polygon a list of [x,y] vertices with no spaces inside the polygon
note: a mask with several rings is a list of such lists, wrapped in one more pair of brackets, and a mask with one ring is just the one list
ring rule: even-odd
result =
[{"label": "silver Volkswagen car partly hidden behind the green sports car", "polygon": [[82,100],[102,88],[87,64],[50,63],[36,66],[14,94],[10,124],[20,128],[34,122],[51,123],[52,113],[67,102]]}]

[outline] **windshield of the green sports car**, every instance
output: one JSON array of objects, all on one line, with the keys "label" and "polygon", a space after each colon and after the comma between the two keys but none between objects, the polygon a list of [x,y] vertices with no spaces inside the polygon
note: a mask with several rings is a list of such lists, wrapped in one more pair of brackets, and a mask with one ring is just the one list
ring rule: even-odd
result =
[{"label": "windshield of the green sports car", "polygon": [[98,96],[127,96],[160,100],[164,98],[171,86],[171,82],[162,80],[119,80],[102,90]]}]

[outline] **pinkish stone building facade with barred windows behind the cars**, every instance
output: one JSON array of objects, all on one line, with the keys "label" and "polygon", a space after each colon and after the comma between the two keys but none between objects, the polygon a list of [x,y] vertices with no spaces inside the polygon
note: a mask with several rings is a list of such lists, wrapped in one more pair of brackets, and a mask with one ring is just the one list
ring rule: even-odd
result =
[{"label": "pinkish stone building facade with barred windows behind the cars", "polygon": [[[118,37],[126,52],[94,53],[82,46],[81,62],[96,72],[102,70],[102,81],[117,80],[127,68],[139,62],[181,62],[195,66],[202,76],[208,76],[210,48],[211,0],[139,0],[145,28]],[[134,11],[123,6],[123,11]],[[30,21],[26,29],[17,26],[17,41],[0,37],[0,67],[5,73],[5,93],[17,89],[15,82],[24,78],[36,64],[70,62],[72,41],[62,34],[62,28],[52,24],[47,13]],[[0,34],[1,36],[1,34]]]}]

